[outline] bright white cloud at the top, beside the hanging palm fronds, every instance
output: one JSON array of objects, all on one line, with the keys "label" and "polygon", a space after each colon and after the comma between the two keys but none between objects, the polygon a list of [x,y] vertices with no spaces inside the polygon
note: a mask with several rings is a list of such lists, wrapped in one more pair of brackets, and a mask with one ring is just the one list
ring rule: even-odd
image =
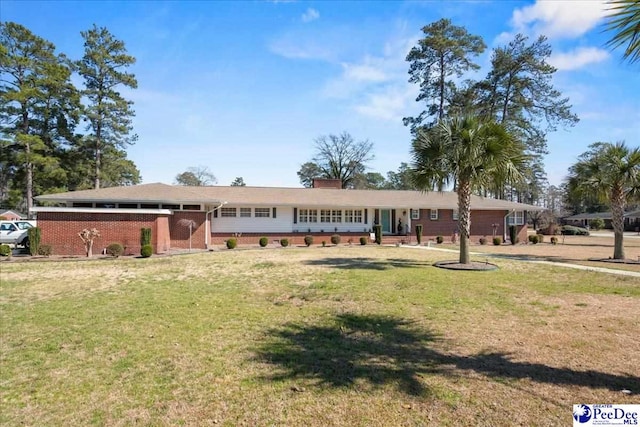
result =
[{"label": "bright white cloud at the top, beside the hanging palm fronds", "polygon": [[511,25],[524,34],[574,38],[594,28],[606,14],[605,0],[536,0],[530,6],[514,10]]}]

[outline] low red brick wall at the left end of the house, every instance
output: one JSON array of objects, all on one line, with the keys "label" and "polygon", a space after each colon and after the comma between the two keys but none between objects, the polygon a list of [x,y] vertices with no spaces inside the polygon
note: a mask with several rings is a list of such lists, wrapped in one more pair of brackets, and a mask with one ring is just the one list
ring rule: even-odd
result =
[{"label": "low red brick wall at the left end of the house", "polygon": [[[166,226],[163,226],[166,223]],[[97,228],[100,237],[93,243],[93,253],[99,254],[111,243],[125,246],[126,255],[140,253],[140,229],[151,228],[152,245],[156,253],[170,248],[168,219],[155,214],[119,214],[84,212],[39,212],[38,227],[42,244],[51,245],[54,255],[84,255],[84,244],[78,233],[85,228]],[[165,230],[166,229],[166,230]]]}]

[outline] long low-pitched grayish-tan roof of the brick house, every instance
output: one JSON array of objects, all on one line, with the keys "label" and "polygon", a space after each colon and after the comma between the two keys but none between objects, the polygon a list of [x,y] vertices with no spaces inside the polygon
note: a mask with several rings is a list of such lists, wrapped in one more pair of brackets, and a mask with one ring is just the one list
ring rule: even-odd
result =
[{"label": "long low-pitched grayish-tan roof of the brick house", "polygon": [[[340,206],[407,207],[455,209],[455,192],[420,192],[399,190],[338,190],[327,188],[282,188],[205,186],[188,187],[161,183],[98,190],[71,191],[36,197],[46,202],[117,202],[117,203],[227,203],[233,206]],[[471,197],[474,210],[543,210],[539,206],[514,203],[488,197]]]}]

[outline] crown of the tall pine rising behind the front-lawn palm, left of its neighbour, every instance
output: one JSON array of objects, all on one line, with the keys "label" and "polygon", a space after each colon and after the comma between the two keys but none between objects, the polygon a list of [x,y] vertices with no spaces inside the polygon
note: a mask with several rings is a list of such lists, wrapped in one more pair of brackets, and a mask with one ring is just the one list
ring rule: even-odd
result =
[{"label": "crown of the tall pine rising behind the front-lawn palm, left of its neighbour", "polygon": [[466,71],[480,68],[471,58],[486,48],[481,37],[469,34],[464,27],[453,25],[449,19],[433,22],[423,27],[422,32],[424,38],[411,49],[407,61],[410,63],[409,82],[420,85],[416,101],[425,101],[427,110],[418,117],[403,119],[412,131],[427,117],[433,118],[432,123],[444,118],[456,93],[453,79]]}]

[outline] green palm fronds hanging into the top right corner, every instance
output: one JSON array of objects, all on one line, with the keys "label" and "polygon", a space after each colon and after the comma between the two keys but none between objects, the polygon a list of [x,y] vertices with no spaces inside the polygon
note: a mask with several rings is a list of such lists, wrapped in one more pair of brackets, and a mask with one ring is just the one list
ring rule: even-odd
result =
[{"label": "green palm fronds hanging into the top right corner", "polygon": [[616,49],[627,45],[623,58],[635,62],[640,59],[640,1],[612,0],[609,2],[612,12],[609,15],[606,30],[615,34],[607,46]]}]

